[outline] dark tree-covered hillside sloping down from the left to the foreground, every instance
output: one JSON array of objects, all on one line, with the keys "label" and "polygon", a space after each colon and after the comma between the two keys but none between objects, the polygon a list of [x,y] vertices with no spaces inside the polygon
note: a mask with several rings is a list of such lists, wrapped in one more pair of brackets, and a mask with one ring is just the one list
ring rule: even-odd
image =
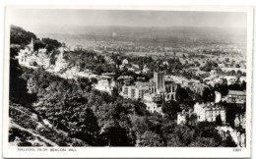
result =
[{"label": "dark tree-covered hillside sloping down from the left to the foreground", "polygon": [[[11,38],[11,44],[20,45],[27,45],[31,38],[36,38],[32,32],[21,27],[13,27],[11,36],[15,37]],[[18,37],[21,37],[20,41]],[[62,72],[75,72],[72,68],[84,69],[83,74],[89,70],[94,76],[114,72],[115,79],[135,74],[128,70],[120,71],[116,66],[121,64],[122,59],[114,53],[108,55],[107,60],[104,55],[85,49],[67,50],[61,54],[61,48],[62,43],[48,37],[36,39],[33,46],[10,48],[11,145],[235,146],[230,138],[225,140],[220,136],[215,123],[177,125],[177,113],[181,108],[177,101],[164,102],[163,115],[157,112],[151,114],[141,100],[125,99],[119,95],[118,87],[108,93],[96,89],[96,78],[63,78]],[[22,59],[17,58],[20,54],[31,59],[32,65],[21,65]],[[56,61],[48,63],[47,68],[35,63],[51,60],[50,57]],[[122,58],[134,64],[140,63],[141,67],[145,63],[151,65],[152,70],[162,62],[148,57],[123,55]],[[171,63],[176,70],[183,67],[178,59],[168,60],[170,69],[174,68]],[[64,69],[57,73],[49,71],[56,69],[57,65],[63,67],[64,63]]]}]

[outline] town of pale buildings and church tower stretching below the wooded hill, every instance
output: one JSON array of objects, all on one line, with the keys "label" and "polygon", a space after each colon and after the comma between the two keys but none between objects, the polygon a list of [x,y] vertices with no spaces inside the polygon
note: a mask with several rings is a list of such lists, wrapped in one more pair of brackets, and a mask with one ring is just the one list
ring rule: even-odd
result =
[{"label": "town of pale buildings and church tower stretching below the wooded hill", "polygon": [[[49,54],[47,48],[38,47],[38,39],[32,38],[30,44],[21,49],[15,58],[23,67],[40,68],[63,79],[94,80],[94,89],[121,96],[124,101],[139,100],[146,105],[150,114],[164,116],[168,112],[166,103],[179,103],[180,109],[174,116],[176,125],[197,125],[205,121],[216,123],[215,129],[223,138],[231,136],[236,146],[246,146],[244,60],[237,61],[239,58],[236,57],[233,58],[236,61],[230,60],[225,54],[224,60],[218,60],[214,54],[179,56],[172,50],[168,51],[172,53],[166,53],[166,50],[161,49],[166,52],[153,59],[150,54],[137,56],[110,48],[107,51],[97,48],[93,58],[98,60],[100,57],[108,69],[90,69],[68,60],[69,54],[75,55],[83,50],[71,49],[62,44]],[[29,79],[27,83],[29,93],[33,92],[32,80]],[[228,108],[234,106],[241,111]]]}]

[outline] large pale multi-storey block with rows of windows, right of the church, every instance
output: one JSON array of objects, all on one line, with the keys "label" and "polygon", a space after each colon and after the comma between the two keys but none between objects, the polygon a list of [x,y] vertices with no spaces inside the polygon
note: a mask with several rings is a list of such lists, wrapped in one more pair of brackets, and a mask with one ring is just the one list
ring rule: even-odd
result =
[{"label": "large pale multi-storey block with rows of windows, right of the church", "polygon": [[215,103],[196,103],[194,113],[196,113],[199,122],[215,122],[217,116],[221,115],[222,122],[225,124],[225,109]]}]

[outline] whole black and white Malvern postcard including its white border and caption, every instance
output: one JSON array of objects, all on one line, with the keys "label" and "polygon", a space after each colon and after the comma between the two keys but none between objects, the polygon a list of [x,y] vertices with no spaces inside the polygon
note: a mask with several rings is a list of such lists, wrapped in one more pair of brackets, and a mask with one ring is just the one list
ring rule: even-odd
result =
[{"label": "whole black and white Malvern postcard including its white border and caption", "polygon": [[3,153],[250,156],[252,11],[8,6]]}]

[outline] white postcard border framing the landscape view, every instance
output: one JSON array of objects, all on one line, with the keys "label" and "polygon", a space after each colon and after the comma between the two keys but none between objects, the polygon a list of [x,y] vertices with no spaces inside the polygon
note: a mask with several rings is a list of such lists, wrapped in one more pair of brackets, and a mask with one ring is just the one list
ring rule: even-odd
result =
[{"label": "white postcard border framing the landscape view", "polygon": [[[171,11],[217,11],[217,12],[247,12],[247,111],[246,111],[246,148],[233,152],[233,148],[189,148],[189,147],[86,147],[76,148],[77,152],[32,152],[17,151],[16,147],[8,146],[8,106],[9,106],[9,48],[10,23],[5,24],[5,68],[4,68],[4,107],[3,107],[3,155],[4,157],[250,157],[251,154],[251,92],[252,92],[252,39],[253,39],[253,8],[251,6],[11,6],[6,8],[6,17],[18,8],[35,9],[113,9],[113,10],[171,10]],[[250,144],[248,144],[250,143]]]}]

